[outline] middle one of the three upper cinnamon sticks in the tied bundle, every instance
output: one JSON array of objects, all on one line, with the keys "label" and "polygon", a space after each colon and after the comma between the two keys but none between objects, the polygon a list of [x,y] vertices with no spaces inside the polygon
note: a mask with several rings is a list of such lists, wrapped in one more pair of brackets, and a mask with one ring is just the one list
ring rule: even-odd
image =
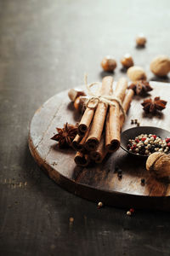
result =
[{"label": "middle one of the three upper cinnamon sticks in the tied bundle", "polygon": [[[100,94],[102,96],[110,95],[112,90],[113,79],[108,76],[102,80],[102,87]],[[105,115],[107,113],[108,105],[104,102],[99,102],[98,107],[96,108],[92,127],[89,131],[89,135],[86,141],[86,148],[89,151],[95,150],[99,144],[99,140],[103,131],[105,124]]]}]

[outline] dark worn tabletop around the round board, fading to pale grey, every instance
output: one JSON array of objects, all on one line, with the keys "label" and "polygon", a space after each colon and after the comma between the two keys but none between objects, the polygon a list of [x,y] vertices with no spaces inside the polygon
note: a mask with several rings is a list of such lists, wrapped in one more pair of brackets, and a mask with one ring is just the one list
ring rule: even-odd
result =
[{"label": "dark worn tabletop around the round board, fading to pale grey", "polygon": [[168,0],[0,1],[0,255],[170,255],[169,213],[98,210],[49,179],[27,145],[36,109],[85,72],[100,81],[103,56],[115,56],[115,79],[127,52],[156,79],[150,61],[170,54],[169,31]]}]

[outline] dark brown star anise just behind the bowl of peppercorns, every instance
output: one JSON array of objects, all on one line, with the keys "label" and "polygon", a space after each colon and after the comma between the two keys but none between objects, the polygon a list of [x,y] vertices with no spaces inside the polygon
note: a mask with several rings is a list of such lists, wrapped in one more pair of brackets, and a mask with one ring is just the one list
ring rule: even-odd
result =
[{"label": "dark brown star anise just behind the bowl of peppercorns", "polygon": [[154,100],[146,99],[141,103],[144,107],[146,113],[155,113],[157,110],[162,110],[166,108],[167,102],[160,99],[160,97],[155,97]]}]

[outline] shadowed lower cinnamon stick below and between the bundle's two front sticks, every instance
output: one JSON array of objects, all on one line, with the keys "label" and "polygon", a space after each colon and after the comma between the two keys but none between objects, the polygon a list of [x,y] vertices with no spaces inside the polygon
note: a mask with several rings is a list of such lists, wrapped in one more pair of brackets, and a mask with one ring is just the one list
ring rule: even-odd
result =
[{"label": "shadowed lower cinnamon stick below and between the bundle's two front sticks", "polygon": [[95,151],[90,152],[90,157],[96,163],[101,163],[102,160],[104,160],[106,154],[107,152],[105,150],[105,134],[103,134],[99,142],[98,148]]}]

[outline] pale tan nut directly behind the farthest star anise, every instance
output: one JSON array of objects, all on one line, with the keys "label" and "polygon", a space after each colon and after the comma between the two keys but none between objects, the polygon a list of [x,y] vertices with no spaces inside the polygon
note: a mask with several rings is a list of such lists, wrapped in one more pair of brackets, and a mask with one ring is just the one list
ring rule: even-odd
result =
[{"label": "pale tan nut directly behind the farthest star anise", "polygon": [[146,74],[142,67],[133,66],[127,69],[127,76],[132,81],[146,80]]}]

